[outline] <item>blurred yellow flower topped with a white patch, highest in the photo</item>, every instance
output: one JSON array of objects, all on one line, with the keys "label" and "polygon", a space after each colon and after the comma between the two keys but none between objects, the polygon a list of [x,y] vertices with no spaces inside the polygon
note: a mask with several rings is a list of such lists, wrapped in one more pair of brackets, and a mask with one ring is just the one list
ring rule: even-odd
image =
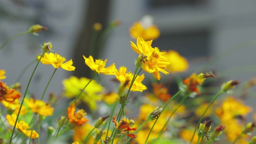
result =
[{"label": "blurred yellow flower topped with a white patch, highest in the photo", "polygon": [[144,16],[141,21],[135,22],[130,27],[131,37],[134,39],[142,37],[144,40],[157,39],[160,36],[160,31],[152,23],[153,19],[150,16]]}]

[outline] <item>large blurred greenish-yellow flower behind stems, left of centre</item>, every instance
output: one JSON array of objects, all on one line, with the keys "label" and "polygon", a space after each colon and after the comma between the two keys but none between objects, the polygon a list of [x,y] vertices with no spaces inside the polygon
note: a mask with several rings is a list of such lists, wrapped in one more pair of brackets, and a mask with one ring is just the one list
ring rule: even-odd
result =
[{"label": "large blurred greenish-yellow flower behind stems, left of centre", "polygon": [[[89,82],[90,79],[81,77],[78,79],[75,76],[71,76],[69,79],[63,80],[64,86],[64,96],[68,98],[75,98],[80,94],[85,85]],[[79,99],[82,99],[91,110],[97,108],[97,103],[102,99],[100,94],[103,91],[103,87],[100,86],[95,80],[92,80],[90,84],[85,88]]]}]

